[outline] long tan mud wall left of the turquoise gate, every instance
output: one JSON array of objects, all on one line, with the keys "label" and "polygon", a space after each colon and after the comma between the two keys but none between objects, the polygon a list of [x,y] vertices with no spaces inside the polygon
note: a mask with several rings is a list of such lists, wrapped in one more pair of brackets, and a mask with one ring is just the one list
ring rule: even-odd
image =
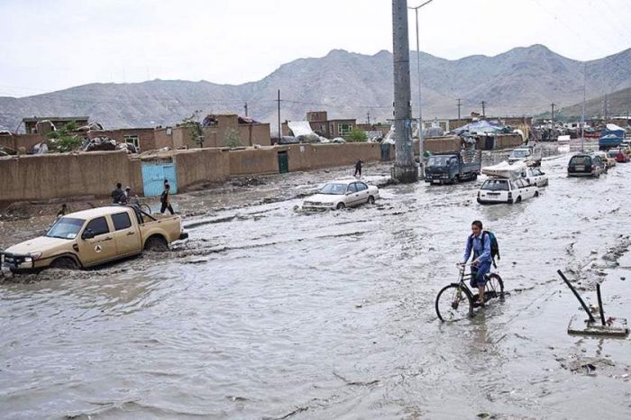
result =
[{"label": "long tan mud wall left of the turquoise gate", "polygon": [[20,156],[0,160],[1,202],[109,196],[116,182],[142,194],[140,160],[125,151]]}]

